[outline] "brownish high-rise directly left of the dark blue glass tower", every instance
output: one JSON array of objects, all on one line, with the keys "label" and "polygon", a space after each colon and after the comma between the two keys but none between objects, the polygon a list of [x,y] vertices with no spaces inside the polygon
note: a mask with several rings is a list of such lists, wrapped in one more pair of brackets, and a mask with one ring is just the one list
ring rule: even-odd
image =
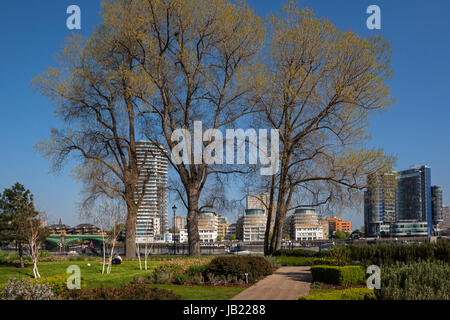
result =
[{"label": "brownish high-rise directly left of the dark blue glass tower", "polygon": [[368,236],[381,235],[396,221],[397,174],[373,173],[367,176],[364,192],[364,226]]}]

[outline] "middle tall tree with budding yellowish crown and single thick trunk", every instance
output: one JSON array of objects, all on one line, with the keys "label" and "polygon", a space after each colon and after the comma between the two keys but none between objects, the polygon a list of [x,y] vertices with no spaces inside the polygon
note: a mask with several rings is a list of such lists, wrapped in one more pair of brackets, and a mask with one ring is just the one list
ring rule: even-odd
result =
[{"label": "middle tall tree with budding yellowish crown and single thick trunk", "polygon": [[[198,150],[215,133],[205,143],[172,135],[177,129],[192,134],[195,121],[207,129],[231,126],[251,112],[249,79],[263,45],[263,23],[247,5],[228,0],[111,1],[105,12],[106,24],[127,30],[116,42],[124,50],[140,48],[136,60],[154,93],[139,97],[152,113],[148,137],[169,150],[178,139],[188,145],[187,161],[172,164],[184,188],[179,191],[188,211],[189,253],[199,255],[199,199],[208,177],[225,170],[206,163]],[[129,21],[139,25],[130,27]],[[203,130],[197,130],[202,140]]]}]

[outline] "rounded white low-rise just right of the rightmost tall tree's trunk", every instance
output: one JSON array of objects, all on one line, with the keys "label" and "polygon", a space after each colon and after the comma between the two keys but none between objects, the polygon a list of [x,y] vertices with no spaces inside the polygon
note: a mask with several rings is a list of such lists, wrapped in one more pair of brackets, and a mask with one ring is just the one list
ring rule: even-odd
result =
[{"label": "rounded white low-rise just right of the rightmost tall tree's trunk", "polygon": [[292,240],[322,240],[328,237],[328,227],[319,220],[315,209],[303,208],[296,209],[295,213],[289,217],[287,222],[290,229],[290,236]]}]

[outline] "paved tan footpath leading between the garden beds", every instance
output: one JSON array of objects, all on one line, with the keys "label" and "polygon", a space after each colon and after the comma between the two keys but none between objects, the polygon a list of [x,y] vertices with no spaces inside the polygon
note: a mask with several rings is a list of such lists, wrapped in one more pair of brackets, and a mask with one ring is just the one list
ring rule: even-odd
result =
[{"label": "paved tan footpath leading between the garden beds", "polygon": [[231,300],[297,300],[309,293],[310,267],[281,267]]}]

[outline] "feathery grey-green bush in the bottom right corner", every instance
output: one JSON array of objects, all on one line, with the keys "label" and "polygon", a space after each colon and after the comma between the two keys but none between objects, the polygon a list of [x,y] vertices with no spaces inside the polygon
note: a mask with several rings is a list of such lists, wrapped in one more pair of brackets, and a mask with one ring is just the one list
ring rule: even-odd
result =
[{"label": "feathery grey-green bush in the bottom right corner", "polygon": [[450,266],[444,262],[420,261],[381,269],[381,300],[449,300]]}]

